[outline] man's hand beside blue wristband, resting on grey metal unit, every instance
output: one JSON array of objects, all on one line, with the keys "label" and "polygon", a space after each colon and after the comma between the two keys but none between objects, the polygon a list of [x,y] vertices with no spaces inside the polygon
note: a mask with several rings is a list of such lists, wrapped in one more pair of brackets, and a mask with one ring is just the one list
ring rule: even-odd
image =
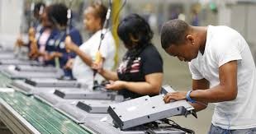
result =
[{"label": "man's hand beside blue wristband, resting on grey metal unit", "polygon": [[182,100],[186,99],[187,92],[182,91],[182,92],[173,92],[173,93],[167,93],[164,96],[164,102],[167,104],[171,100]]}]

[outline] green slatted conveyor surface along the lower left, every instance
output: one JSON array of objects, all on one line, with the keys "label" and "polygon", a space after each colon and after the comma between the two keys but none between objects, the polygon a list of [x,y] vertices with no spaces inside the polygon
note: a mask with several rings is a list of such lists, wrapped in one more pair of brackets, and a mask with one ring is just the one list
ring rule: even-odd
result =
[{"label": "green slatted conveyor surface along the lower left", "polygon": [[[11,80],[0,73],[0,87],[6,87]],[[90,133],[78,124],[59,113],[50,105],[40,102],[33,96],[20,92],[0,92],[0,98],[5,100],[12,109],[17,111],[27,122],[40,133],[52,134],[87,134]]]}]

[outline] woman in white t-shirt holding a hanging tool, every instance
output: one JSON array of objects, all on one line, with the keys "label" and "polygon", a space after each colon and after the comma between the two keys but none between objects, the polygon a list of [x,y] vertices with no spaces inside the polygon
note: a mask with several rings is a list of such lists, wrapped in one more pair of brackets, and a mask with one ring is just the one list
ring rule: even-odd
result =
[{"label": "woman in white t-shirt holding a hanging tool", "polygon": [[[70,59],[66,67],[72,68],[73,76],[79,82],[88,85],[88,89],[90,90],[92,90],[94,82],[91,66],[97,56],[102,32],[106,34],[104,39],[102,39],[101,47],[99,49],[103,59],[101,64],[108,70],[111,70],[115,65],[115,40],[113,39],[111,30],[102,30],[106,15],[107,7],[99,3],[93,3],[85,9],[83,19],[85,29],[88,30],[92,36],[80,47],[78,47],[76,43],[73,43],[69,37],[65,40],[66,49],[78,55],[76,58]],[[97,75],[95,80],[100,82],[103,78],[102,76]]]}]

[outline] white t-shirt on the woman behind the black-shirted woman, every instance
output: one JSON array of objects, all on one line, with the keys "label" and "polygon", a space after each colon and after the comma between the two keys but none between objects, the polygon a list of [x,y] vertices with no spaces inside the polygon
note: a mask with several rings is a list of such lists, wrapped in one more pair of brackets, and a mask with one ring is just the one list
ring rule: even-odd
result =
[{"label": "white t-shirt on the woman behind the black-shirted woman", "polygon": [[[106,30],[103,30],[105,32]],[[88,41],[83,43],[79,49],[86,53],[92,60],[95,60],[98,46],[101,40],[102,30],[98,30]],[[100,49],[100,53],[102,57],[105,58],[103,63],[103,68],[107,70],[113,69],[115,65],[115,53],[116,53],[116,45],[115,40],[111,34],[111,31],[107,30],[107,33],[102,40],[102,45]],[[88,89],[92,90],[93,86],[93,71],[91,67],[83,62],[83,60],[77,56],[73,63],[73,76],[79,81],[86,85],[88,85]],[[98,75],[95,77],[95,80],[101,82],[103,79],[102,76]]]}]

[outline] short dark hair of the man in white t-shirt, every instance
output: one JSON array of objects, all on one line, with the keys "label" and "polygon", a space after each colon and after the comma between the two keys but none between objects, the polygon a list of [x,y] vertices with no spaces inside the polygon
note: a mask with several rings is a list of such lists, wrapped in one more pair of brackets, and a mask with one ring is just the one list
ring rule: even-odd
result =
[{"label": "short dark hair of the man in white t-shirt", "polygon": [[182,20],[171,20],[164,23],[161,29],[161,44],[168,49],[171,44],[182,44],[185,41],[189,25]]}]

